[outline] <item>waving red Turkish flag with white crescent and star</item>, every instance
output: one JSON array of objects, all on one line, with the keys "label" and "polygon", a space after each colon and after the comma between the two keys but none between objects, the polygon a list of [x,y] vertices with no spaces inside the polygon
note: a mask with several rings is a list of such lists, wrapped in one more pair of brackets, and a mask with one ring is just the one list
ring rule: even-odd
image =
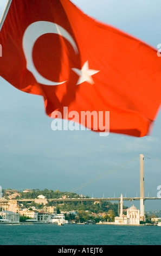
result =
[{"label": "waving red Turkish flag with white crescent and star", "polygon": [[69,0],[12,0],[0,44],[0,75],[25,93],[42,95],[49,117],[59,112],[104,132],[98,119],[88,124],[81,113],[110,112],[110,132],[149,135],[161,102],[161,58],[153,47]]}]

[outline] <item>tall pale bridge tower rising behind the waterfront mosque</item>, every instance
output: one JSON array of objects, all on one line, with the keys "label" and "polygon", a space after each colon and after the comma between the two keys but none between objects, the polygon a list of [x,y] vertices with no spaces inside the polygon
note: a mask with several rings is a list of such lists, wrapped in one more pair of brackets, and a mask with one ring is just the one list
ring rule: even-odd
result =
[{"label": "tall pale bridge tower rising behind the waterfront mosque", "polygon": [[140,215],[144,216],[144,156],[140,154]]}]

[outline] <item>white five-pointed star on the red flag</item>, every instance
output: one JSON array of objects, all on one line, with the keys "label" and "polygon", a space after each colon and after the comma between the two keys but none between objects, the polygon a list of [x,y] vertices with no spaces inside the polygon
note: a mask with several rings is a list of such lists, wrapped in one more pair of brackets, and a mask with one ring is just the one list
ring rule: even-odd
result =
[{"label": "white five-pointed star on the red flag", "polygon": [[72,70],[80,76],[76,85],[83,83],[83,82],[88,82],[88,83],[94,84],[92,76],[99,72],[99,70],[89,69],[88,60],[82,66],[82,69],[73,68]]}]

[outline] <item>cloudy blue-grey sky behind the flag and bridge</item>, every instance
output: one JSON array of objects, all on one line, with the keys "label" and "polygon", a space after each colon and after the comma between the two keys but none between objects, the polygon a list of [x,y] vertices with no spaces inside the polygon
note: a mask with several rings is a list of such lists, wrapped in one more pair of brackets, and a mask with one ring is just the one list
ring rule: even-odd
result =
[{"label": "cloudy blue-grey sky behind the flag and bridge", "polygon": [[[96,20],[155,48],[161,43],[159,0],[72,2]],[[0,3],[0,16],[6,3]],[[2,77],[0,88],[2,188],[47,188],[101,198],[120,197],[121,193],[123,197],[137,197],[139,155],[143,154],[145,196],[157,197],[157,187],[161,185],[161,111],[151,135],[143,138],[114,133],[100,137],[92,131],[53,131],[41,96],[23,93]],[[128,164],[119,167],[127,161]],[[106,175],[99,178],[102,174]],[[131,204],[139,208],[139,202],[124,202],[127,206]],[[150,210],[161,210],[161,200],[146,200],[145,211]]]}]

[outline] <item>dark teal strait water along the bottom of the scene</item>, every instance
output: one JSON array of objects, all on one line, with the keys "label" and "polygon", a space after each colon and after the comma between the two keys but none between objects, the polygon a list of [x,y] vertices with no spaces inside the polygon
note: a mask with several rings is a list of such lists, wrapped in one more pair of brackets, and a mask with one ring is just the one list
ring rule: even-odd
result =
[{"label": "dark teal strait water along the bottom of the scene", "polygon": [[0,245],[161,245],[161,227],[0,224]]}]

